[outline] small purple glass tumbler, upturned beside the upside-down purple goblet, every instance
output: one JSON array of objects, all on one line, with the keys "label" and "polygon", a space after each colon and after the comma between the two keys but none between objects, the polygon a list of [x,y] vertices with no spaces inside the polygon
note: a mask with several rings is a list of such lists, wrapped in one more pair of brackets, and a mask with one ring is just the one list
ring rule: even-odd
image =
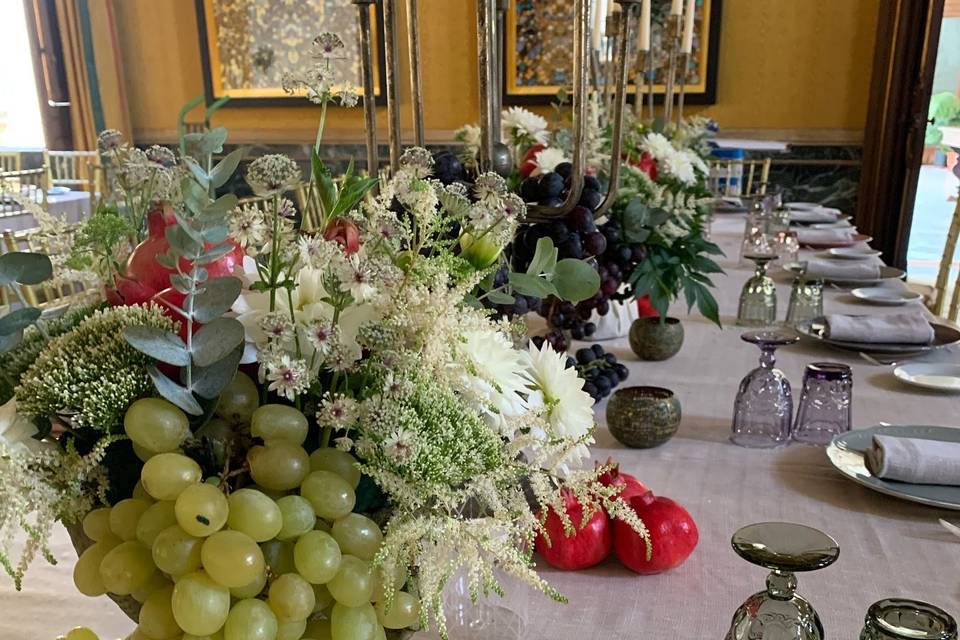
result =
[{"label": "small purple glass tumbler, upturned beside the upside-down purple goblet", "polygon": [[850,367],[839,362],[807,365],[793,439],[807,444],[830,444],[836,434],[850,431],[852,410]]}]

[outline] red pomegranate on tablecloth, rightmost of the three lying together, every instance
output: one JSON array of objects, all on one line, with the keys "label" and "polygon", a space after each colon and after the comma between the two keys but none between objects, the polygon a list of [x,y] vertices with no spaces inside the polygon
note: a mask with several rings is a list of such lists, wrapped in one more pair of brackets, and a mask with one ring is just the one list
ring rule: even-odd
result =
[{"label": "red pomegranate on tablecloth, rightmost of the three lying together", "polygon": [[669,498],[652,492],[636,496],[630,506],[650,532],[653,553],[647,560],[647,547],[626,522],[613,523],[613,548],[620,562],[641,575],[662,573],[683,564],[700,540],[697,524],[686,509]]}]

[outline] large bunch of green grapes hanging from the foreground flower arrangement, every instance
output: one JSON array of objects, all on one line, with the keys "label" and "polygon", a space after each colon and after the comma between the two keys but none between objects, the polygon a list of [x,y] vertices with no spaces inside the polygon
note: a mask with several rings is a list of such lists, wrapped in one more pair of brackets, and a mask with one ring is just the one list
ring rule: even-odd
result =
[{"label": "large bunch of green grapes hanging from the foreground flower arrangement", "polygon": [[303,413],[256,407],[246,382],[251,410],[217,427],[262,441],[238,476],[250,483],[233,491],[233,478],[204,478],[181,452],[190,428],[180,409],[156,398],[130,406],[124,426],[146,462],[132,497],[84,518],[94,544],[74,569],[77,588],[140,602],[132,640],[377,640],[416,624],[406,576],[391,577],[385,606],[385,577],[371,565],[383,534],[353,513],[356,459],[308,454]]}]

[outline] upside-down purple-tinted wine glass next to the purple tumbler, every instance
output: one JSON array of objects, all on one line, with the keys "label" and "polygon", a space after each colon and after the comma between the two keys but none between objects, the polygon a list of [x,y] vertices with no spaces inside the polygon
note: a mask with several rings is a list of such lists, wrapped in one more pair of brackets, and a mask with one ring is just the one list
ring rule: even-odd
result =
[{"label": "upside-down purple-tinted wine glass next to the purple tumbler", "polygon": [[741,447],[769,448],[790,439],[793,395],[790,381],[776,364],[778,347],[800,339],[792,331],[748,331],[740,339],[760,347],[760,366],[740,382],[733,404],[730,440]]}]

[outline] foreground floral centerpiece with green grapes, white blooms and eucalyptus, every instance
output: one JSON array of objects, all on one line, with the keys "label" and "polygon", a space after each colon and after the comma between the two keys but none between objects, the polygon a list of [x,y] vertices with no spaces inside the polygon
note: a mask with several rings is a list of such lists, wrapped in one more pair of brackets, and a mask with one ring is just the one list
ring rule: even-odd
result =
[{"label": "foreground floral centerpiece with green grapes, white blooms and eucalyptus", "polygon": [[[338,42],[317,39],[307,83],[324,107]],[[0,563],[18,587],[37,555],[55,560],[60,521],[82,552],[77,588],[117,598],[136,638],[372,640],[445,635],[457,572],[474,597],[505,572],[562,599],[532,559],[548,515],[572,535],[606,511],[649,554],[607,467],[579,467],[583,379],[484,306],[577,304],[599,285],[549,238],[509,265],[525,205],[501,177],[445,183],[414,148],[374,196],[376,180],[335,178],[314,153],[320,225],[305,233],[286,198],[296,162],[249,163],[259,199],[240,205],[222,187],[242,150],[214,162],[226,132],[190,135],[180,154],[141,154],[105,132],[129,179],[79,232],[85,250],[69,265],[0,256],[21,301],[0,318],[18,363],[0,410]],[[93,304],[56,315],[21,295],[81,268],[106,285]]]}]

